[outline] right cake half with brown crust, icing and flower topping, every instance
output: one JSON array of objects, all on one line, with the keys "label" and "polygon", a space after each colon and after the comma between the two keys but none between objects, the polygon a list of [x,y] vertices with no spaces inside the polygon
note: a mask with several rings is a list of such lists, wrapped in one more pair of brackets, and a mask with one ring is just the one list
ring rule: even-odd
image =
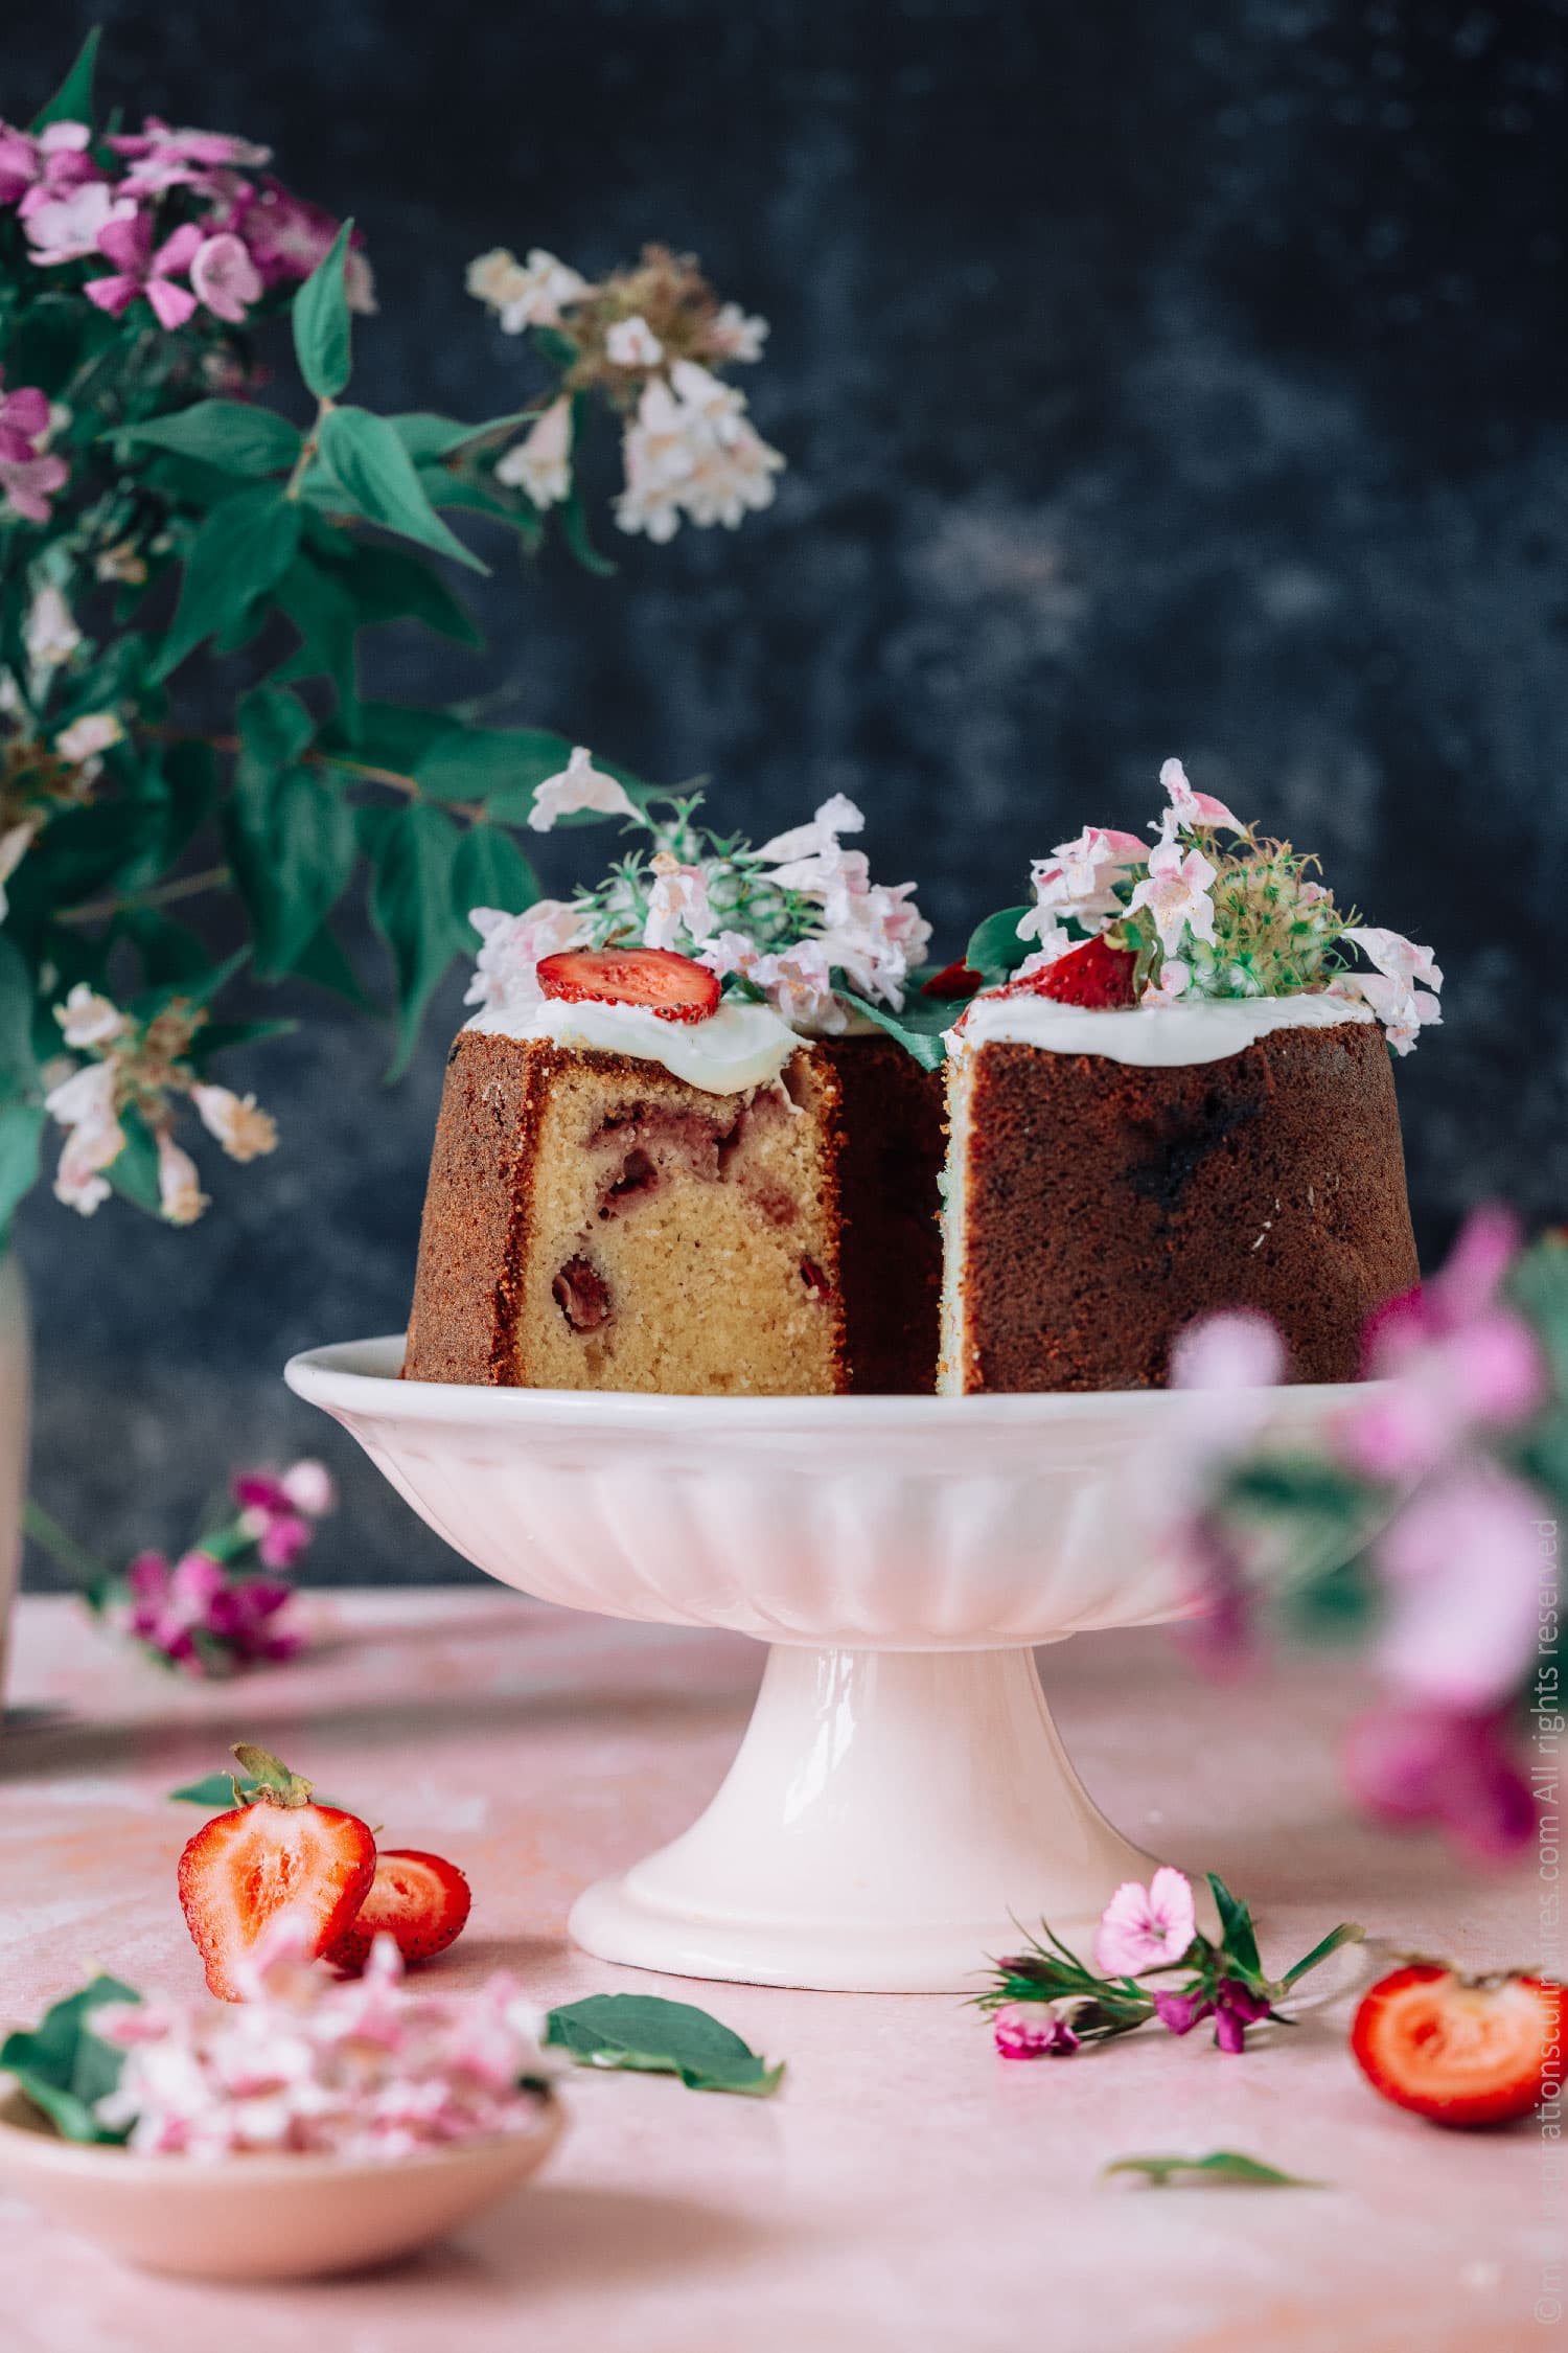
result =
[{"label": "right cake half with brown crust, icing and flower topping", "polygon": [[971,944],[992,986],[947,1040],[950,1393],[1159,1388],[1218,1308],[1269,1315],[1293,1379],[1347,1381],[1418,1280],[1389,1045],[1439,1014],[1429,951],[1340,915],[1178,762],[1161,781],[1154,847],[1086,828]]}]

